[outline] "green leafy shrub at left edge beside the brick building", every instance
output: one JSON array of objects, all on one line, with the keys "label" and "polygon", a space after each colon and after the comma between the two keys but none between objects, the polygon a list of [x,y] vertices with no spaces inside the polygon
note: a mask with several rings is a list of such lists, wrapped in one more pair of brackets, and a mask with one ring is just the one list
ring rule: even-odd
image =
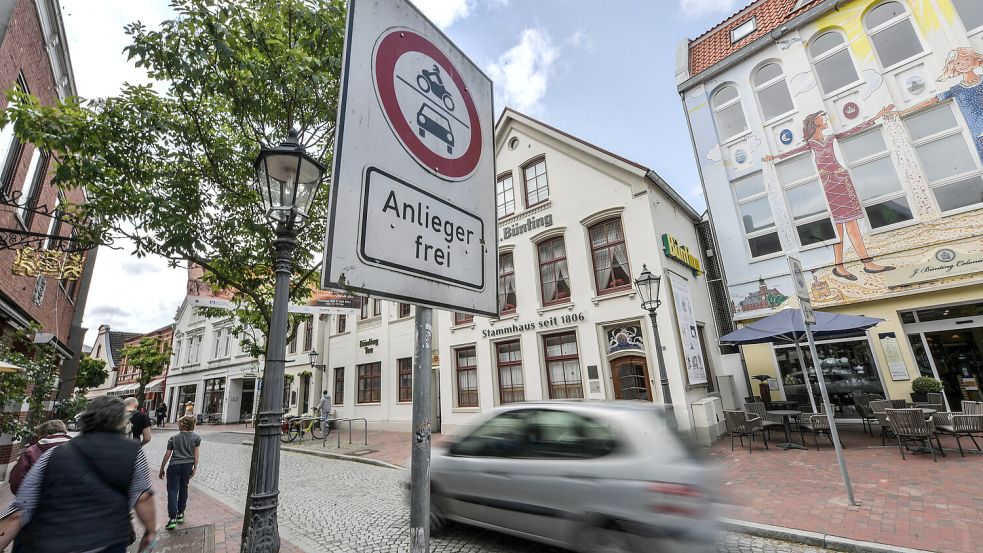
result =
[{"label": "green leafy shrub at left edge beside the brick building", "polygon": [[[45,404],[51,399],[58,376],[58,355],[50,343],[35,344],[37,325],[0,337],[0,360],[24,371],[0,375],[0,433],[26,438],[47,419]],[[27,419],[20,420],[20,405],[27,402]]]}]

